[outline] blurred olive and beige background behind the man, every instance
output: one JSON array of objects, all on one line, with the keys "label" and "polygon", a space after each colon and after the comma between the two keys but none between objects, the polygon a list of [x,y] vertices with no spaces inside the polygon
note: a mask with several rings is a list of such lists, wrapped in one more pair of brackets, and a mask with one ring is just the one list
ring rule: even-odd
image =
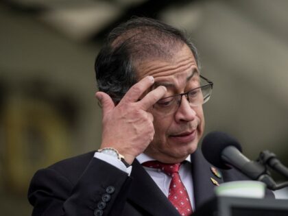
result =
[{"label": "blurred olive and beige background behind the man", "polygon": [[37,169],[99,147],[95,56],[109,30],[134,15],[193,38],[215,83],[206,133],[227,132],[251,159],[269,149],[288,165],[287,10],[286,0],[1,1],[1,215],[31,215]]}]

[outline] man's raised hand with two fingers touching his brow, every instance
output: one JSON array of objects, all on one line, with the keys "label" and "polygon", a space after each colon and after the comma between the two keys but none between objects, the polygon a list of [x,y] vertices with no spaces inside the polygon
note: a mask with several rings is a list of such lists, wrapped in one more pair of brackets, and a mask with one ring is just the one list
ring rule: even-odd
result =
[{"label": "man's raised hand with two fingers touching his brow", "polygon": [[154,137],[153,116],[147,110],[165,95],[167,89],[158,86],[140,99],[152,84],[154,77],[143,78],[129,89],[117,106],[106,93],[95,94],[103,112],[101,148],[114,147],[129,164]]}]

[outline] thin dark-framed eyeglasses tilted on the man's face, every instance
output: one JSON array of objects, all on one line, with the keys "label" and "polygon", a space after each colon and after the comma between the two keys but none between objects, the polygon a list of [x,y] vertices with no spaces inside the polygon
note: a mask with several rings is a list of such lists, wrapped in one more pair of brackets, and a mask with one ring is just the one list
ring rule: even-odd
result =
[{"label": "thin dark-framed eyeglasses tilted on the man's face", "polygon": [[179,108],[182,96],[184,95],[189,101],[191,107],[205,104],[211,97],[213,82],[200,75],[200,86],[193,88],[187,93],[164,97],[154,104],[153,108],[162,115],[171,115]]}]

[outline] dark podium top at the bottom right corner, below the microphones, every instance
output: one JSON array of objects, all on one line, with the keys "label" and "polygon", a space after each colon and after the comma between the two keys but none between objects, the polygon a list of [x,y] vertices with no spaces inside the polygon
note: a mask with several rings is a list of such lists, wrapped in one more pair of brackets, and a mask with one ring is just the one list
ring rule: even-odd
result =
[{"label": "dark podium top at the bottom right corner, below the microphones", "polygon": [[193,216],[288,216],[288,200],[215,197]]}]

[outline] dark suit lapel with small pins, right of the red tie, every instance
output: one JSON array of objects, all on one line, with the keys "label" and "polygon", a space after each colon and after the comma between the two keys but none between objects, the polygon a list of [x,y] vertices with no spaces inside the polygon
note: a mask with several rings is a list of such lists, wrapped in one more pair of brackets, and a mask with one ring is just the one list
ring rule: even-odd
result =
[{"label": "dark suit lapel with small pins, right of the red tie", "polygon": [[214,194],[214,187],[216,186],[211,178],[215,179],[219,184],[223,182],[223,178],[217,178],[211,171],[211,165],[205,160],[202,152],[197,149],[191,154],[193,188],[195,198],[195,208],[199,208],[207,202]]}]

